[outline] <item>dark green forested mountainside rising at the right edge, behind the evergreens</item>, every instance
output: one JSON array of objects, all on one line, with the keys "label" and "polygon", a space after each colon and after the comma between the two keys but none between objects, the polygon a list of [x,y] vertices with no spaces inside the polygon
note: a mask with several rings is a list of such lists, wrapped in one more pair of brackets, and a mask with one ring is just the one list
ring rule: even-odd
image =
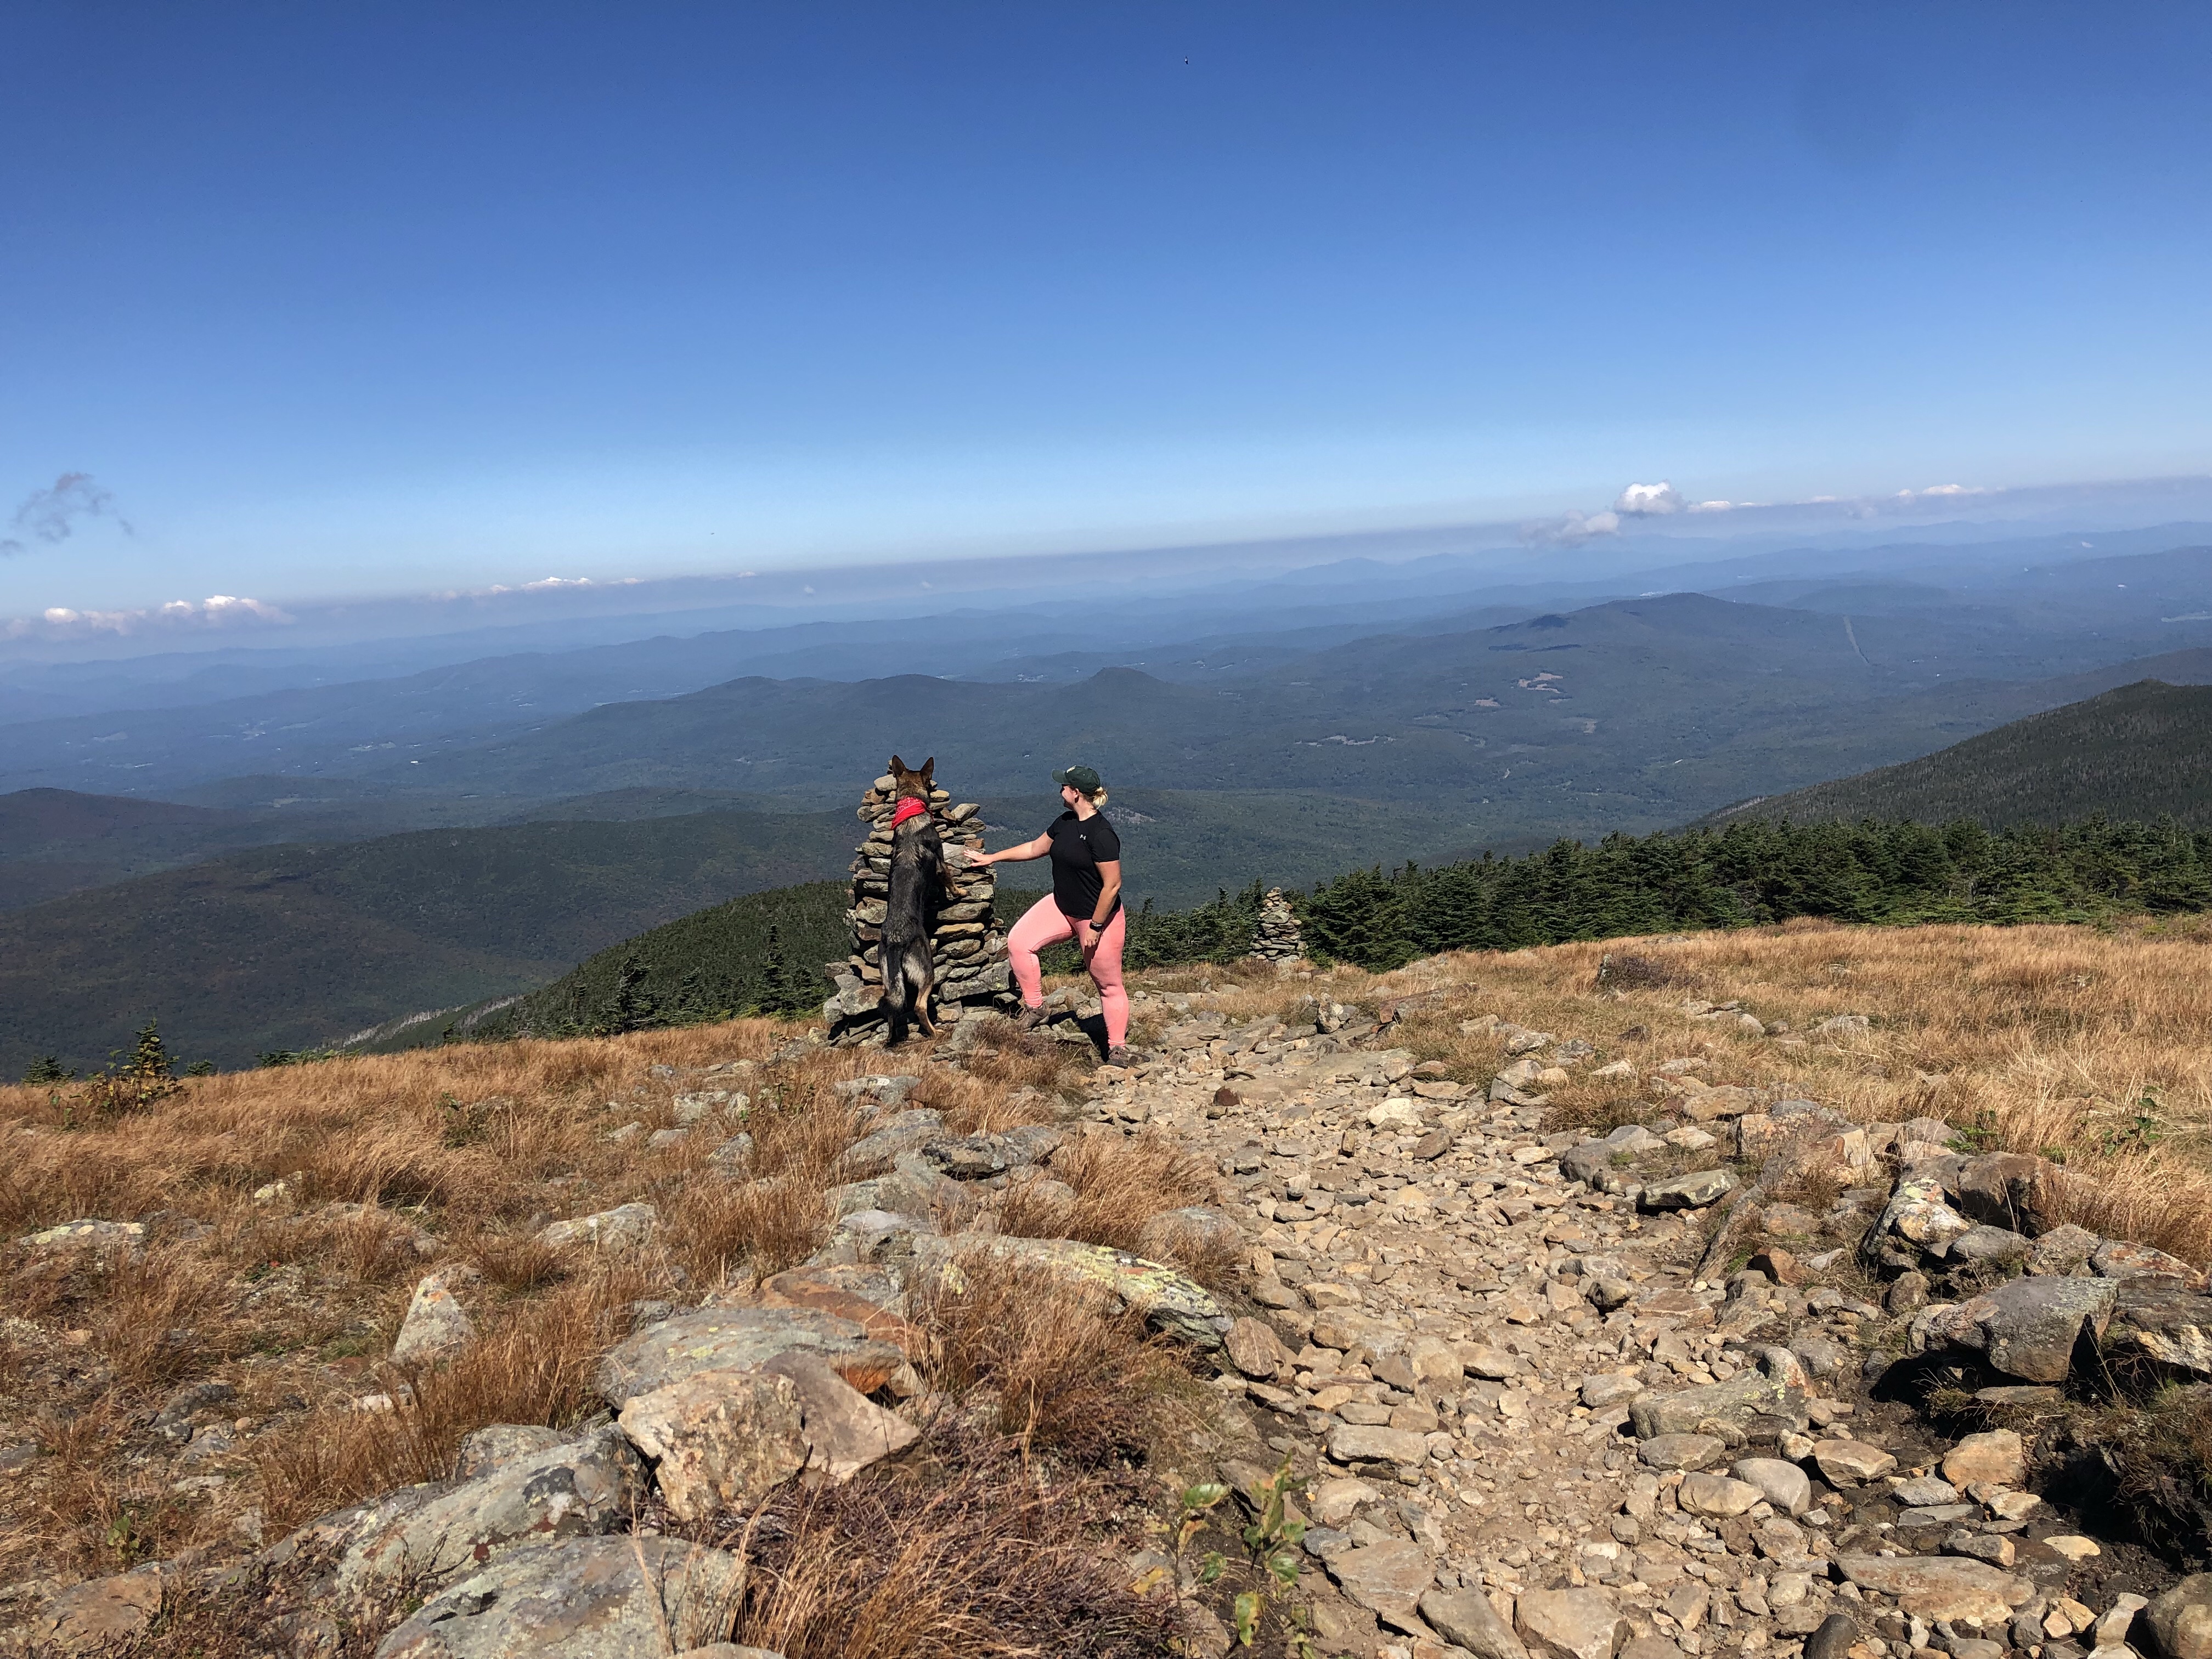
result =
[{"label": "dark green forested mountainside rising at the right edge, behind the evergreens", "polygon": [[1723,807],[1732,818],[1975,818],[1991,827],[2090,814],[2212,827],[2212,686],[2143,679],[2011,721],[1936,754]]}]

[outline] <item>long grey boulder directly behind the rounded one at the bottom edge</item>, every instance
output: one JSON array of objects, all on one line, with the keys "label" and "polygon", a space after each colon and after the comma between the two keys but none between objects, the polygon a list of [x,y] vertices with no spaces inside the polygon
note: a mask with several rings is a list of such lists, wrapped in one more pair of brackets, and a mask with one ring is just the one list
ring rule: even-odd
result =
[{"label": "long grey boulder directly behind the rounded one at the bottom edge", "polygon": [[546,1537],[608,1533],[644,1500],[646,1473],[613,1427],[495,1464],[473,1480],[403,1486],[310,1524],[343,1540],[336,1588],[447,1584]]}]

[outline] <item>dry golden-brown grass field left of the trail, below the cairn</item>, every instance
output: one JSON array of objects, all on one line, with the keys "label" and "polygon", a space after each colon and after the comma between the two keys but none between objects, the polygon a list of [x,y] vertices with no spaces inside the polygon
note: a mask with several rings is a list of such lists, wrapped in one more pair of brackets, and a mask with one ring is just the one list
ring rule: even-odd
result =
[{"label": "dry golden-brown grass field left of the trail, below the cairn", "polygon": [[[863,1128],[830,1086],[922,1068],[929,1053],[768,1064],[792,1035],[745,1020],[336,1060],[190,1079],[122,1117],[66,1088],[0,1088],[0,1237],[148,1223],[137,1254],[0,1245],[0,1449],[44,1451],[0,1486],[0,1586],[188,1546],[239,1555],[263,1531],[447,1473],[480,1425],[573,1420],[633,1301],[686,1305],[818,1248],[836,1155]],[[699,1075],[732,1060],[754,1066]],[[1082,1064],[1013,1040],[967,1075],[925,1075],[951,1128],[984,1130],[1055,1117]],[[701,1086],[752,1097],[757,1179],[708,1159],[730,1126],[664,1150],[606,1139],[628,1121],[670,1126],[675,1095]],[[664,1217],[650,1250],[611,1263],[535,1241],[549,1219],[630,1201]],[[460,1270],[482,1340],[451,1369],[403,1378],[380,1358],[429,1270]],[[239,1444],[192,1460],[148,1422],[206,1378],[237,1387],[201,1422]],[[411,1407],[352,1409],[409,1389]],[[184,1475],[219,1480],[179,1493]]]}]

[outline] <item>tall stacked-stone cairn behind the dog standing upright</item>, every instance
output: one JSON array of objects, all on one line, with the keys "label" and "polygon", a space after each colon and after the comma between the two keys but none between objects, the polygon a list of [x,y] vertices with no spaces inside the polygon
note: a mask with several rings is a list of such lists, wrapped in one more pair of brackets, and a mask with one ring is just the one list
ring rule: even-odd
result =
[{"label": "tall stacked-stone cairn behind the dog standing upright", "polygon": [[[836,995],[823,1004],[830,1040],[845,1046],[883,1042],[883,905],[891,894],[891,812],[894,779],[885,772],[860,796],[858,818],[867,838],[852,860],[852,956],[830,962]],[[936,964],[931,1006],[938,1020],[958,1020],[964,1011],[993,1009],[1013,1002],[1013,973],[1006,967],[1006,936],[991,920],[998,874],[956,863],[960,847],[982,849],[982,807],[973,801],[951,805],[945,790],[929,792],[929,816],[945,843],[945,880],[949,894],[936,907],[929,927],[929,956]]]}]

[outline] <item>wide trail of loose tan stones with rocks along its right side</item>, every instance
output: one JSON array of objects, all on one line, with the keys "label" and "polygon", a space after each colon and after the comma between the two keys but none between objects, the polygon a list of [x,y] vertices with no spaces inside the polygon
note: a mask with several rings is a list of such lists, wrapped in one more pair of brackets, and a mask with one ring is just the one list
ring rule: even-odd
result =
[{"label": "wide trail of loose tan stones with rocks along its right side", "polygon": [[[2168,1360],[2212,1327],[2172,1256],[1951,1208],[2037,1230],[2051,1166],[1947,1152],[1933,1119],[1708,1091],[1692,1057],[1650,1066],[1692,1082],[1663,1135],[1544,1135],[1542,1091],[1590,1064],[1584,1037],[1467,1022],[1504,1064],[1462,1086],[1367,1020],[1327,1035],[1183,1011],[1166,1057],[1102,1073],[1095,1113],[1206,1148],[1241,1192],[1259,1312],[1230,1332],[1223,1387],[1265,1453],[1225,1469],[1252,1486],[1287,1455],[1310,1478],[1323,1650],[2205,1652],[2212,1579],[2168,1588],[2033,1489],[2037,1411],[2093,1323]],[[1759,1203],[1743,1168],[1838,1190],[1820,1214]],[[1701,1214],[1745,1197],[1710,1248]],[[1922,1270],[1991,1261],[2026,1274],[1927,1305]],[[1880,1387],[1891,1369],[1975,1374],[1982,1416],[2020,1427],[1936,1433]]]}]

